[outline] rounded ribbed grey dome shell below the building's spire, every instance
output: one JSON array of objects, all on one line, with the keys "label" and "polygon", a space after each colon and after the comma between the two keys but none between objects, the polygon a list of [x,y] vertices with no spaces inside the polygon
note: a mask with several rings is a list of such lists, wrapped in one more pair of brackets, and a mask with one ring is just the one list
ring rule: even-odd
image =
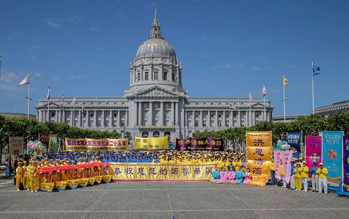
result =
[{"label": "rounded ribbed grey dome shell below the building's spire", "polygon": [[140,47],[138,47],[136,58],[140,56],[153,55],[171,56],[172,58],[176,58],[176,54],[174,53],[172,45],[161,38],[150,38],[142,44],[140,44]]}]

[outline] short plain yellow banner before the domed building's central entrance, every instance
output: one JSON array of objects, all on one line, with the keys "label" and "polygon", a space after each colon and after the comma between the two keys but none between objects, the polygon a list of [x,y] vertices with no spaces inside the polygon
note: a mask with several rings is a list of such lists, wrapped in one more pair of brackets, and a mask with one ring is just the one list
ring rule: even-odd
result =
[{"label": "short plain yellow banner before the domed building's central entrance", "polygon": [[135,137],[135,149],[168,149],[168,136],[152,138]]}]

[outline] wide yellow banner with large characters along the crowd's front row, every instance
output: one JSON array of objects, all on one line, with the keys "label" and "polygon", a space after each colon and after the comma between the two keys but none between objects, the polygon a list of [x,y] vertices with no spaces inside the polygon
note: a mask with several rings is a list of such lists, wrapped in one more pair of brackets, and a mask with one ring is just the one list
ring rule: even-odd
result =
[{"label": "wide yellow banner with large characters along the crowd's front row", "polygon": [[215,163],[164,164],[164,163],[110,163],[115,181],[209,181]]}]

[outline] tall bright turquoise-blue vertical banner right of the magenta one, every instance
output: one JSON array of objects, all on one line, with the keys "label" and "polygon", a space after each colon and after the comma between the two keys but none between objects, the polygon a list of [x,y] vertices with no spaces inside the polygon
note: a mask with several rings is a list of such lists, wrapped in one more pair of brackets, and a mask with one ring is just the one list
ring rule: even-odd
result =
[{"label": "tall bright turquoise-blue vertical banner right of the magenta one", "polygon": [[343,131],[322,131],[322,163],[328,170],[327,177],[342,177]]}]

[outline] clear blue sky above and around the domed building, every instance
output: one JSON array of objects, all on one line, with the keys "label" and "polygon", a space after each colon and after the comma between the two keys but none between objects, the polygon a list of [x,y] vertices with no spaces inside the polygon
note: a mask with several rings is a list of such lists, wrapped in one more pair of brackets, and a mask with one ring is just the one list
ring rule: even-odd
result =
[{"label": "clear blue sky above and around the domed building", "polygon": [[154,8],[182,63],[191,97],[262,98],[283,114],[349,99],[349,1],[0,1],[0,112],[27,113],[51,97],[121,97],[128,67],[147,40]]}]

